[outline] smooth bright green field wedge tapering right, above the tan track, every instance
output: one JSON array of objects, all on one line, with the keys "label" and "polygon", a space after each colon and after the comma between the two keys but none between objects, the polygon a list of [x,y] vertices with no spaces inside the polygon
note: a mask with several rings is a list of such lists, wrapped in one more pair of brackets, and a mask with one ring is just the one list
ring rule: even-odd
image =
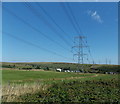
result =
[{"label": "smooth bright green field wedge tapering right, above the tan track", "polygon": [[8,82],[34,82],[55,80],[59,78],[93,76],[95,74],[64,73],[55,71],[22,71],[22,70],[3,70],[3,84]]}]

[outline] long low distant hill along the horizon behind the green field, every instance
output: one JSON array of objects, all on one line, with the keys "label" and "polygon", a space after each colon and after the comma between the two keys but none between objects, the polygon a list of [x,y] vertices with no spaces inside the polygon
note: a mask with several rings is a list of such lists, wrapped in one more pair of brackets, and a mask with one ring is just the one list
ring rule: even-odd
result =
[{"label": "long low distant hill along the horizon behind the green field", "polygon": [[[1,64],[1,63],[0,63]],[[84,68],[84,72],[120,72],[120,65],[101,65],[101,64],[83,64],[78,65],[76,63],[64,63],[64,62],[2,62],[2,68],[14,68],[14,69],[44,69],[44,70],[56,70],[57,68],[68,68],[70,70],[81,70]]]}]

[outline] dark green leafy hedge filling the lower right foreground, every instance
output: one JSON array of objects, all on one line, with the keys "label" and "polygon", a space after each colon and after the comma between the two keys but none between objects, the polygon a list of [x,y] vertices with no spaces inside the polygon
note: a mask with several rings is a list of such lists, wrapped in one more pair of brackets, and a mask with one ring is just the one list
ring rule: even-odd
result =
[{"label": "dark green leafy hedge filling the lower right foreground", "polygon": [[19,96],[22,102],[119,103],[117,79],[71,81],[53,84],[47,91]]}]

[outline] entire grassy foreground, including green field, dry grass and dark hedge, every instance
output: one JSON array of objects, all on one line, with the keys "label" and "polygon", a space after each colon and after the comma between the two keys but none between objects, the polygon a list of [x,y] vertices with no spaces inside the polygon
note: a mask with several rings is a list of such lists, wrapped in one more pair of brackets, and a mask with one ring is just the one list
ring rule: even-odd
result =
[{"label": "entire grassy foreground, including green field, dry grass and dark hedge", "polygon": [[119,101],[117,74],[3,69],[2,75],[3,102]]}]

